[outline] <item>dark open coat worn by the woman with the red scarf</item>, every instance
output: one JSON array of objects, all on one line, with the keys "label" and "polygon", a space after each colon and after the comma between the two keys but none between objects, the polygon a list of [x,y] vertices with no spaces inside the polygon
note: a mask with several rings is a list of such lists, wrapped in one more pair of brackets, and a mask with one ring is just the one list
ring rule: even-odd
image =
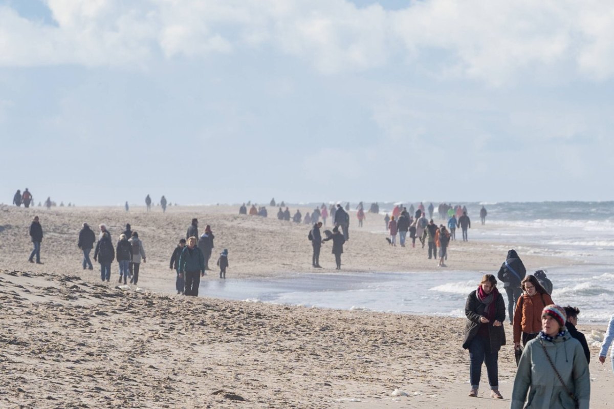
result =
[{"label": "dark open coat worn by the woman with the red scarf", "polygon": [[[467,349],[473,338],[478,335],[480,325],[488,325],[488,334],[491,344],[491,351],[499,351],[501,346],[505,345],[505,330],[503,330],[503,322],[505,322],[505,303],[501,294],[495,298],[495,317],[491,319],[488,324],[482,324],[480,322],[481,317],[486,316],[486,305],[478,300],[477,290],[473,290],[469,297],[467,297],[467,303],[465,303],[465,316],[467,316],[467,325],[465,325],[465,339],[462,343],[462,347]],[[492,325],[495,321],[502,323],[499,327]]]}]

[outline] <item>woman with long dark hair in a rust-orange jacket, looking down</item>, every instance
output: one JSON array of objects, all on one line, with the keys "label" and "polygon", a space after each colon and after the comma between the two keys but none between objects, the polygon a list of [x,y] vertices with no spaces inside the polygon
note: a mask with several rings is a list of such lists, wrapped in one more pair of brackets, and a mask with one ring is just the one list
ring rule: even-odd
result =
[{"label": "woman with long dark hair in a rust-orange jacket, looking down", "polygon": [[522,286],[524,294],[518,298],[514,310],[514,349],[520,348],[521,337],[523,345],[537,337],[542,327],[541,312],[546,305],[553,304],[550,295],[534,276],[527,275]]}]

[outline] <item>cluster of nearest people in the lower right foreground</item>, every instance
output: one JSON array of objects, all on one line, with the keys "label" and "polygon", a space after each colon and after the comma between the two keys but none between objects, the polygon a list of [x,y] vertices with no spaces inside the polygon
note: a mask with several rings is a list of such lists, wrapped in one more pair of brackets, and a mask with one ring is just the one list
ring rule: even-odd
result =
[{"label": "cluster of nearest people in the lower right foreground", "polygon": [[[507,292],[508,322],[513,325],[513,352],[518,365],[511,408],[588,408],[591,353],[585,335],[576,328],[580,310],[556,305],[546,271],[527,275],[513,249],[508,251],[497,278]],[[499,392],[498,360],[500,349],[506,345],[506,314],[497,278],[484,275],[465,303],[467,325],[462,347],[469,351],[471,397],[478,396],[484,364],[491,397],[503,398]],[[599,351],[602,364],[612,340],[614,315]],[[611,357],[614,372],[614,349]]]}]

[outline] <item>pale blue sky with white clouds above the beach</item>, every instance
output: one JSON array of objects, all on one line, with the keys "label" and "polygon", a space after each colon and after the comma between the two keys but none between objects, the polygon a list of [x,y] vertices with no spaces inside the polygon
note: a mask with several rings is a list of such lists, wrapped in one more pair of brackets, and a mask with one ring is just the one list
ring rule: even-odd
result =
[{"label": "pale blue sky with white clouds above the beach", "polygon": [[612,200],[609,1],[0,0],[0,202]]}]

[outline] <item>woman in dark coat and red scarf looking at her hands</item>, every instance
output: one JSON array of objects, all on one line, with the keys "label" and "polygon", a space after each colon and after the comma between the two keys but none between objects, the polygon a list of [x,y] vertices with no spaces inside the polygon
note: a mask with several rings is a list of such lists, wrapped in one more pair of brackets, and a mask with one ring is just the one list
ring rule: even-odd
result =
[{"label": "woman in dark coat and red scarf looking at her hands", "polygon": [[482,364],[486,364],[491,397],[503,399],[499,393],[499,349],[505,345],[505,303],[497,290],[497,279],[492,274],[484,275],[480,286],[467,297],[465,304],[465,340],[462,347],[469,349],[469,376],[471,391],[469,396],[476,397],[480,388]]}]

